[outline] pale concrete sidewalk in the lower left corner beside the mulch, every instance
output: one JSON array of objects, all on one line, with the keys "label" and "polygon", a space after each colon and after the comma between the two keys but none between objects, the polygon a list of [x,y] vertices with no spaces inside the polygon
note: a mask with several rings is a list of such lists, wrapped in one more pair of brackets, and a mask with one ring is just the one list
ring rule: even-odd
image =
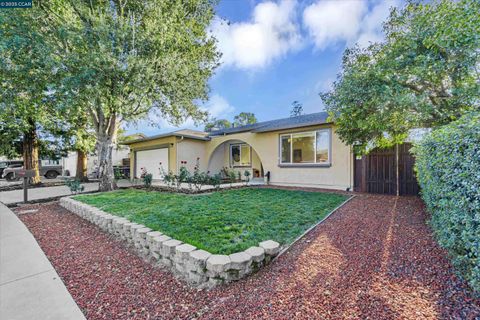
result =
[{"label": "pale concrete sidewalk in the lower left corner beside the mulch", "polygon": [[0,319],[85,319],[35,238],[1,203]]}]

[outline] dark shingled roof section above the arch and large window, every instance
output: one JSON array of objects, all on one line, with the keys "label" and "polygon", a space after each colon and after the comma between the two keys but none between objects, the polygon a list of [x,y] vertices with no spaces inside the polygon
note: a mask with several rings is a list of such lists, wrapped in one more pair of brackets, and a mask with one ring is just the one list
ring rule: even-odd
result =
[{"label": "dark shingled roof section above the arch and large window", "polygon": [[310,113],[310,114],[304,114],[297,117],[270,120],[265,122],[257,122],[254,124],[249,124],[246,126],[241,126],[236,128],[216,130],[216,131],[212,131],[209,135],[219,136],[219,135],[249,132],[249,131],[250,132],[269,132],[269,131],[277,131],[277,130],[284,130],[284,129],[308,127],[308,126],[313,126],[317,124],[330,123],[327,120],[327,118],[328,118],[327,112]]}]

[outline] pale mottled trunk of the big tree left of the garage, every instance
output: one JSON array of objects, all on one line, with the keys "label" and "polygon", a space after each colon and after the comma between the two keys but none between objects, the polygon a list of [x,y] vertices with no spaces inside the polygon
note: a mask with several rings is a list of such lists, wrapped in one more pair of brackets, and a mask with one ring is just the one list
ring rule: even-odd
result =
[{"label": "pale mottled trunk of the big tree left of the garage", "polygon": [[100,191],[111,191],[117,186],[113,174],[112,151],[114,147],[112,137],[106,135],[98,138],[97,154],[98,154],[98,175]]}]

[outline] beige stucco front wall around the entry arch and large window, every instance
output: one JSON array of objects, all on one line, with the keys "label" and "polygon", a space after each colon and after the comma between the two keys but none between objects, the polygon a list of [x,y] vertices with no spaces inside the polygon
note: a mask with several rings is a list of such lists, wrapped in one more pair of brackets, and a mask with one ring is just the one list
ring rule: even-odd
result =
[{"label": "beige stucco front wall around the entry arch and large window", "polygon": [[[281,134],[304,132],[316,129],[331,128],[331,165],[327,167],[295,166],[281,167],[279,139]],[[351,147],[342,143],[332,125],[279,130],[274,132],[253,133],[243,132],[212,137],[206,144],[207,155],[212,155],[215,149],[229,140],[241,140],[248,143],[258,154],[263,164],[264,172],[270,171],[270,183],[274,185],[318,187],[329,189],[352,189],[353,187],[353,155]],[[226,148],[227,149],[227,148]],[[227,150],[226,159],[229,154]]]}]

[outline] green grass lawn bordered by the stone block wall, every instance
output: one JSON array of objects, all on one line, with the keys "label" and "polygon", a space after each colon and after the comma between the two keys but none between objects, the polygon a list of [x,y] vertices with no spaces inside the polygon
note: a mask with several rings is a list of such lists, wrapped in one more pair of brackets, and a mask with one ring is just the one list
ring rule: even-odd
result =
[{"label": "green grass lawn bordered by the stone block wall", "polygon": [[193,196],[130,189],[75,199],[211,253],[230,254],[269,239],[289,244],[347,196],[263,188]]}]

